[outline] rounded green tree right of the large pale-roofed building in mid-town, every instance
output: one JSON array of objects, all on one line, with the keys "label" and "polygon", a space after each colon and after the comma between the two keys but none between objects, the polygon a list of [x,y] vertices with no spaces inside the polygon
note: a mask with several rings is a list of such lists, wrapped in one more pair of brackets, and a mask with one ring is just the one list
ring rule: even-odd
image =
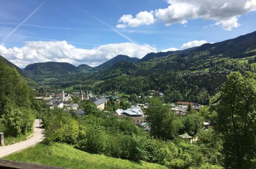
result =
[{"label": "rounded green tree right of the large pale-roofed building in mid-town", "polygon": [[155,138],[173,139],[182,127],[182,123],[171,111],[171,107],[164,105],[158,98],[150,100],[146,115],[150,125],[150,134]]}]

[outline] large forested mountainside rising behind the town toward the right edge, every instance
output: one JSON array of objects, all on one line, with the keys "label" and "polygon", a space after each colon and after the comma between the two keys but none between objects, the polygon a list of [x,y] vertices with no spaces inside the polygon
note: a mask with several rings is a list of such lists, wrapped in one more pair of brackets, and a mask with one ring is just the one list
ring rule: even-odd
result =
[{"label": "large forested mountainside rising behind the town toward the right edge", "polygon": [[256,32],[186,50],[149,53],[141,60],[118,55],[90,71],[60,68],[58,74],[43,74],[42,70],[24,72],[53,88],[79,90],[81,83],[95,94],[148,94],[148,90],[154,89],[164,92],[167,102],[209,103],[209,96],[219,91],[230,71],[256,72]]}]

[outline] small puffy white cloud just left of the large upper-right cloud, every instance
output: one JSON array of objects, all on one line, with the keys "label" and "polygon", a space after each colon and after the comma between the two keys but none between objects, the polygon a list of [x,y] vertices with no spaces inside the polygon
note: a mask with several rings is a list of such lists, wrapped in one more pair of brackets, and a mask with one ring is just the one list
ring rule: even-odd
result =
[{"label": "small puffy white cloud just left of the large upper-right cloud", "polygon": [[116,28],[126,28],[129,27],[137,27],[141,25],[150,25],[154,23],[154,11],[141,11],[136,14],[136,17],[133,18],[131,14],[123,15],[118,22],[122,24],[118,24]]}]

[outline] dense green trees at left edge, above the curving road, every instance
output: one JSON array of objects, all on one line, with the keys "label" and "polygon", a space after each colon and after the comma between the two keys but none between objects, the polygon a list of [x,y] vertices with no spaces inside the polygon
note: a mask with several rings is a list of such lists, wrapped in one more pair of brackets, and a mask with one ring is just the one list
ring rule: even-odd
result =
[{"label": "dense green trees at left edge, above the curving road", "polygon": [[5,125],[5,135],[26,134],[33,128],[34,111],[39,106],[34,91],[17,70],[7,66],[2,59],[0,67],[0,118]]}]

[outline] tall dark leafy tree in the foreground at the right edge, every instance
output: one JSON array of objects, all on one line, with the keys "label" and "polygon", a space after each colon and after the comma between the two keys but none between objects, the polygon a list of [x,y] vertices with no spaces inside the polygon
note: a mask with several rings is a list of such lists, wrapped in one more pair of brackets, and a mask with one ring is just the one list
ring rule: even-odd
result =
[{"label": "tall dark leafy tree in the foreground at the right edge", "polygon": [[256,167],[255,74],[231,73],[221,88],[218,131],[223,136],[226,168]]}]

